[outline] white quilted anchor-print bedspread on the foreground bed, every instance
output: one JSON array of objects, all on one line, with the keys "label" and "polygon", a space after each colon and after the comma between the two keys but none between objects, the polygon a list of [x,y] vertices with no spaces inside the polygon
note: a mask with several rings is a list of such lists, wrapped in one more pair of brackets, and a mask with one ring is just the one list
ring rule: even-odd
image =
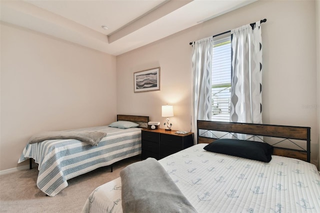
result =
[{"label": "white quilted anchor-print bedspread on the foreground bed", "polygon": [[[198,212],[320,212],[315,165],[272,155],[260,162],[196,144],[159,160]],[[120,177],[97,187],[83,212],[122,212]]]}]

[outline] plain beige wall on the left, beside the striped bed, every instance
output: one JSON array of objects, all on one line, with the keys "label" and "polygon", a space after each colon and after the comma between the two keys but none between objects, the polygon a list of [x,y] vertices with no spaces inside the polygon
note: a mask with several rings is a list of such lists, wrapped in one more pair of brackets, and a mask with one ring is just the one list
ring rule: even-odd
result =
[{"label": "plain beige wall on the left, beside the striped bed", "polygon": [[17,160],[34,133],[115,120],[115,56],[0,27],[0,170],[23,165]]}]

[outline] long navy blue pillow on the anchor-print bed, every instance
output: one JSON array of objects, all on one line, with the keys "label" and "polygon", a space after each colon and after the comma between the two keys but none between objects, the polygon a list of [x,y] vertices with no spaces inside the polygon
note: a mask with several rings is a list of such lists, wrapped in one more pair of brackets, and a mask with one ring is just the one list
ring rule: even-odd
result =
[{"label": "long navy blue pillow on the anchor-print bed", "polygon": [[265,142],[238,139],[217,139],[203,147],[207,151],[228,154],[247,159],[270,162],[273,146]]}]

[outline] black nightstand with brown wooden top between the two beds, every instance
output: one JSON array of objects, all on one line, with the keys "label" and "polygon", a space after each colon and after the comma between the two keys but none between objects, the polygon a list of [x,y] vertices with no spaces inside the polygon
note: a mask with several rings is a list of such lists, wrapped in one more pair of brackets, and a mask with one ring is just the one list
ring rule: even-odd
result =
[{"label": "black nightstand with brown wooden top between the two beds", "polygon": [[141,129],[141,157],[161,159],[193,145],[193,132],[177,134],[177,130]]}]

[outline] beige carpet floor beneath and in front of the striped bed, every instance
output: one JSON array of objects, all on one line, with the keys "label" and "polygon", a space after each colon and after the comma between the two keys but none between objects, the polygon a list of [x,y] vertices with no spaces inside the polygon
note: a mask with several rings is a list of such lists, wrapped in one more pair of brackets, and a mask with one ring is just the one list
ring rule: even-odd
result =
[{"label": "beige carpet floor beneath and in front of the striped bed", "polygon": [[36,186],[37,168],[0,176],[0,212],[81,212],[86,198],[99,185],[119,177],[120,170],[139,161],[140,155],[123,159],[110,167],[100,167],[73,177],[55,196],[46,196]]}]

